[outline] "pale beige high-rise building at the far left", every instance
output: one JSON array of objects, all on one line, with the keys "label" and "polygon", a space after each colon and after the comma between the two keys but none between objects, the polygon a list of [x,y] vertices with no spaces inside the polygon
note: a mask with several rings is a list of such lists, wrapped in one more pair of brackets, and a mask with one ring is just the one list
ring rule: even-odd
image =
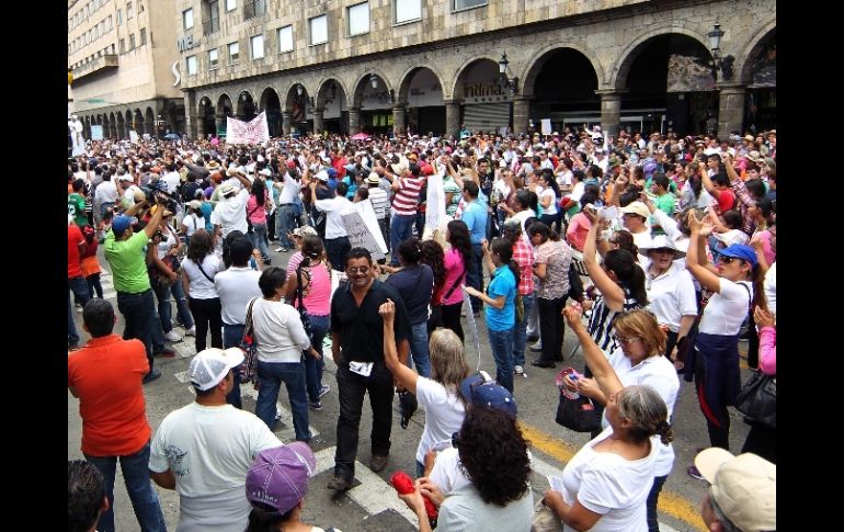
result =
[{"label": "pale beige high-rise building at the far left", "polygon": [[173,0],[68,0],[71,111],[105,138],[185,128]]}]

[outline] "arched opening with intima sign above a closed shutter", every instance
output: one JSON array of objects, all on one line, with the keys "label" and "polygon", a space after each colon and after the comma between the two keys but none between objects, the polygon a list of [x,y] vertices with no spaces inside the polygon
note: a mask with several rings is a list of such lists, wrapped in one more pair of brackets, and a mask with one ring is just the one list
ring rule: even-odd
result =
[{"label": "arched opening with intima sign above a closed shutter", "polygon": [[470,131],[499,132],[512,124],[512,95],[490,58],[475,59],[460,70],[454,99],[461,101],[460,124]]}]

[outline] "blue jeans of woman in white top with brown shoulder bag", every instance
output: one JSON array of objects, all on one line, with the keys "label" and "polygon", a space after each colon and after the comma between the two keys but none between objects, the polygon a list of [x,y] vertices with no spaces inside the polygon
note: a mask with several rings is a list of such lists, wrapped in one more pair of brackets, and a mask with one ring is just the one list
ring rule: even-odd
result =
[{"label": "blue jeans of woman in white top with brown shoulder bag", "polygon": [[266,423],[270,430],[275,430],[275,403],[282,383],[287,385],[287,398],[293,411],[293,428],[296,439],[310,440],[308,429],[308,394],[305,390],[305,364],[299,362],[261,362],[258,361],[258,376],[261,387],[258,389],[255,416]]}]

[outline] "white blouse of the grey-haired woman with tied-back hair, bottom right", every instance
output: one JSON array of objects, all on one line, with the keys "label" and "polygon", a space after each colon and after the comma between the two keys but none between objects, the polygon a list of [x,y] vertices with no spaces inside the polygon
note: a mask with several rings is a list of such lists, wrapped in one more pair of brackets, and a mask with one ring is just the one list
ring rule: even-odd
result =
[{"label": "white blouse of the grey-haired woman with tied-back hair, bottom right", "polygon": [[[612,428],[604,430],[566,465],[562,500],[570,506],[579,500],[588,510],[602,514],[590,532],[647,532],[646,500],[655,476],[657,445],[662,443],[651,440],[651,452],[639,460],[595,452],[594,446],[612,433]],[[562,530],[574,531],[566,523]]]}]

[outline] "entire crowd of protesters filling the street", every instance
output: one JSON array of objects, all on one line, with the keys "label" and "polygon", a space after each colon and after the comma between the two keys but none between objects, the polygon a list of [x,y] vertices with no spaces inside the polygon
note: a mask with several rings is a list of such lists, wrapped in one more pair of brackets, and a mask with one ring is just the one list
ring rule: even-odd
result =
[{"label": "entire crowd of protesters filling the street", "polygon": [[[362,202],[386,259],[350,240],[343,214]],[[434,211],[444,218],[426,227]],[[494,375],[467,364],[466,313],[483,313]],[[195,342],[196,396],[152,431],[142,388],[179,328]],[[775,427],[748,418],[738,457],[728,438],[741,337],[748,364],[776,374],[775,131],[90,142],[68,161],[68,387],[87,461],[68,463],[70,530],[114,530],[117,462],[141,530],[166,530],[150,478],[179,494],[179,530],[308,530],[308,417],[331,392],[329,354],[340,406],[329,489],[352,486],[365,394],[368,465],[387,467],[398,390],[426,411],[415,490],[401,495],[420,530],[531,530],[513,393],[528,350],[539,369],[567,360],[567,329],[585,366],[560,392],[603,417],[564,489],[543,498],[562,530],[659,530],[681,378],[709,434],[687,472],[711,484],[710,530],[776,529]],[[240,398],[249,381],[254,412]],[[287,444],[273,432],[282,384]]]}]

